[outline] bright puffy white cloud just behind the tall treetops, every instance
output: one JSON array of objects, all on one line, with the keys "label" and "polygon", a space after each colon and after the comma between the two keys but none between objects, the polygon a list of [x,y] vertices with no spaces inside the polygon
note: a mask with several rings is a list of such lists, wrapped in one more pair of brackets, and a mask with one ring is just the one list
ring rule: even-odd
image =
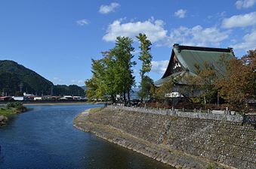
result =
[{"label": "bright puffy white cloud just behind the tall treetops", "polygon": [[135,39],[139,33],[144,33],[152,42],[156,42],[166,38],[167,31],[164,29],[162,20],[146,20],[136,23],[122,23],[122,20],[115,20],[108,26],[106,35],[103,36],[104,41],[116,41],[118,36],[128,36]]}]

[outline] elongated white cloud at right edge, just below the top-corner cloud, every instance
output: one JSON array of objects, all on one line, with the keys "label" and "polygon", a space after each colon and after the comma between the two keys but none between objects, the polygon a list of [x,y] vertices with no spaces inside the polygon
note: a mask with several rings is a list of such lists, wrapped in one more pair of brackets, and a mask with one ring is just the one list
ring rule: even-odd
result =
[{"label": "elongated white cloud at right edge, just below the top-corner cloud", "polygon": [[230,18],[225,18],[222,21],[222,26],[224,28],[230,29],[234,27],[245,27],[253,26],[256,24],[256,12],[251,12],[249,14],[234,15]]}]

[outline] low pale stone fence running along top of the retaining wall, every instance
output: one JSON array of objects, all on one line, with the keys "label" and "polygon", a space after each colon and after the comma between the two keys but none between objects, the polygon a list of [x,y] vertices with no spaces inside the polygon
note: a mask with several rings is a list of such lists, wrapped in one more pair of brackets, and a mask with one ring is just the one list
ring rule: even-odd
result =
[{"label": "low pale stone fence running along top of the retaining wall", "polygon": [[214,120],[224,120],[229,122],[243,122],[243,116],[241,115],[229,115],[229,114],[216,114],[216,113],[195,113],[195,112],[182,112],[178,110],[156,110],[156,109],[147,109],[144,107],[124,107],[118,105],[109,105],[109,108],[112,109],[122,109],[128,111],[135,111],[140,113],[153,113],[160,115],[168,116],[179,116],[187,118],[196,118],[196,119],[214,119]]}]

